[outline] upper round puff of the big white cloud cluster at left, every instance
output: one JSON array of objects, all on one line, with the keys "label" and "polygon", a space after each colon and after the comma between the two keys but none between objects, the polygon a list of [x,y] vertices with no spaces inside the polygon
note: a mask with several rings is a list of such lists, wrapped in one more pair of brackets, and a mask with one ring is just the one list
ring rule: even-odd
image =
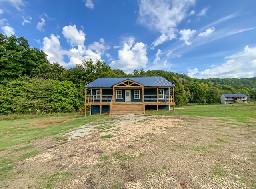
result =
[{"label": "upper round puff of the big white cloud cluster at left", "polygon": [[67,42],[72,46],[84,46],[85,33],[82,30],[77,30],[76,25],[64,26],[62,28],[62,34],[67,39]]}]

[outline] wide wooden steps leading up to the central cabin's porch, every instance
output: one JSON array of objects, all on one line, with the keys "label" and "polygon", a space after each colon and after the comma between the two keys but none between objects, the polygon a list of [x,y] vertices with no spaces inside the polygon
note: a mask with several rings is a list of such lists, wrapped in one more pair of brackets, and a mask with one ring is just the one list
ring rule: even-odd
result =
[{"label": "wide wooden steps leading up to the central cabin's porch", "polygon": [[125,102],[113,103],[110,109],[110,115],[128,115],[128,114],[144,114],[143,103]]}]

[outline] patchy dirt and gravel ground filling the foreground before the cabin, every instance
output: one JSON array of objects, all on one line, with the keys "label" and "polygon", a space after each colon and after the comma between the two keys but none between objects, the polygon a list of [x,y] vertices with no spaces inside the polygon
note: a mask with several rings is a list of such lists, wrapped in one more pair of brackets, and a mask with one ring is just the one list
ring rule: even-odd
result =
[{"label": "patchy dirt and gravel ground filling the foreground before the cabin", "polygon": [[105,117],[31,145],[2,189],[256,187],[256,127],[213,117]]}]

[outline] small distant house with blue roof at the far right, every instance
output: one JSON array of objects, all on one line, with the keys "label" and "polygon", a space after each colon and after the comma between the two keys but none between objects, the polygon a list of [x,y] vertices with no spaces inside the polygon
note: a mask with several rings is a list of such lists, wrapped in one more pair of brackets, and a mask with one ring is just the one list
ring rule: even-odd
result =
[{"label": "small distant house with blue roof at the far right", "polygon": [[220,96],[221,104],[230,104],[235,102],[247,103],[247,97],[245,94],[222,94]]}]

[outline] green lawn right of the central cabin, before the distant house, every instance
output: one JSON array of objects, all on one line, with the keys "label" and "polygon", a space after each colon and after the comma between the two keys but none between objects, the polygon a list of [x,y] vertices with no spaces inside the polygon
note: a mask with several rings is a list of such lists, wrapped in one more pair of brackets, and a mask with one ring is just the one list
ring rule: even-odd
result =
[{"label": "green lawn right of the central cabin, before the distant house", "polygon": [[[184,109],[178,109],[184,108]],[[173,111],[146,111],[149,115],[188,115],[189,117],[222,117],[256,126],[250,118],[256,117],[256,103],[234,103],[215,105],[191,105],[176,107]],[[230,121],[231,122],[231,121]]]}]

